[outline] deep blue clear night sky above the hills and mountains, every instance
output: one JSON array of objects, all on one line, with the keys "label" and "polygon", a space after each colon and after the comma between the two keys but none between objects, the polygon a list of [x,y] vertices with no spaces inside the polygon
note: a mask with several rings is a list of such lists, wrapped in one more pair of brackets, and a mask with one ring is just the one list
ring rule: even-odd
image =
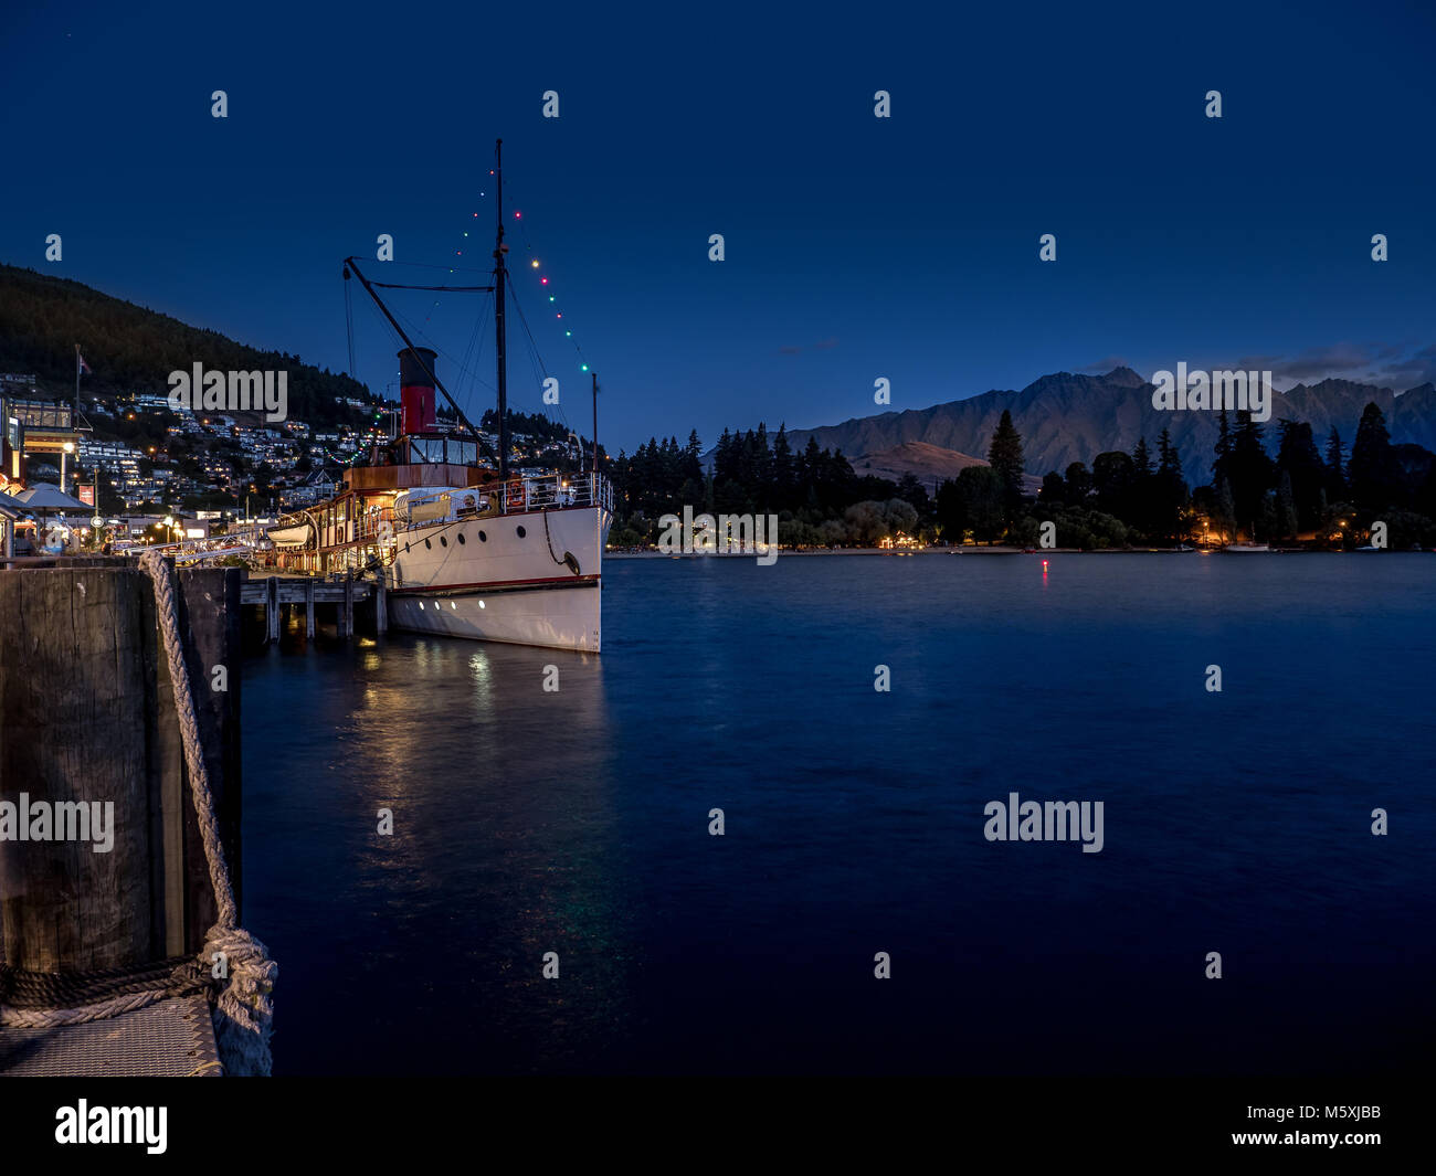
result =
[{"label": "deep blue clear night sky above the hills and mountains", "polygon": [[[599,372],[615,451],[866,415],[877,376],[895,408],[1119,362],[1436,378],[1429,4],[606,9],[14,6],[0,260],[343,370],[342,258],[449,280],[373,261],[391,233],[484,269],[503,136],[520,306],[584,431]],[[480,303],[395,303],[454,376]],[[391,336],[355,325],[382,392]]]}]

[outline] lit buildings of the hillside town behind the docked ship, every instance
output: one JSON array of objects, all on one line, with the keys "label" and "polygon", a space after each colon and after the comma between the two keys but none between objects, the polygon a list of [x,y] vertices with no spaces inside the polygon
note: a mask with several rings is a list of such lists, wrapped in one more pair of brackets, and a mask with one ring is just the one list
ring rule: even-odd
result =
[{"label": "lit buildings of the hillside town behind the docked ship", "polygon": [[[66,402],[34,375],[0,373],[6,554],[205,541],[325,501],[346,468],[393,435],[399,412],[382,398],[342,398],[336,408],[355,424],[177,411],[155,389]],[[530,431],[510,428],[516,471],[549,472],[576,459],[577,437],[518,416]],[[480,438],[497,454],[497,422],[485,418]],[[36,487],[46,488],[49,505],[24,510],[32,503],[17,495]]]}]

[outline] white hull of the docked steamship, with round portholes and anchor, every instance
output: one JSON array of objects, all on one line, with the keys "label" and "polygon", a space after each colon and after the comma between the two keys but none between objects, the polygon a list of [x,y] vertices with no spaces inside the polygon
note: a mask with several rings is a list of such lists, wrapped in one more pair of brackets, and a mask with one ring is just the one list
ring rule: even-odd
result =
[{"label": "white hull of the docked steamship, with round portholes and anchor", "polygon": [[401,530],[386,569],[398,629],[597,653],[610,511],[561,507]]}]

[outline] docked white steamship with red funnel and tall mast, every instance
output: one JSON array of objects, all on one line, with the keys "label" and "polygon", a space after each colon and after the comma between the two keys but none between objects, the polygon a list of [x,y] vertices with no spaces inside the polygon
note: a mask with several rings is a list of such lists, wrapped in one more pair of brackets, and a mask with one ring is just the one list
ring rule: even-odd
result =
[{"label": "docked white steamship with red funnel and tall mast", "polygon": [[[523,477],[508,470],[501,145],[494,281],[470,287],[494,294],[497,462],[482,459],[478,429],[437,375],[437,353],[415,346],[350,257],[345,280],[359,280],[405,345],[398,426],[370,447],[368,464],[349,468],[333,498],[280,518],[269,537],[287,570],[379,580],[396,629],[597,653],[603,546],[613,521],[597,438],[587,471]],[[458,428],[438,421],[439,393]]]}]

